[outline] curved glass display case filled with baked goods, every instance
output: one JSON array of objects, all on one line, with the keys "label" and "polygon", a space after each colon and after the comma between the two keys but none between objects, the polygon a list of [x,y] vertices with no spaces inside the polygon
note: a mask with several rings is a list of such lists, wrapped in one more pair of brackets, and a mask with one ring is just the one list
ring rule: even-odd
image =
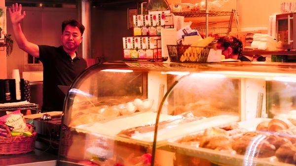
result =
[{"label": "curved glass display case filled with baked goods", "polygon": [[59,166],[294,166],[296,66],[116,62],[66,96]]}]

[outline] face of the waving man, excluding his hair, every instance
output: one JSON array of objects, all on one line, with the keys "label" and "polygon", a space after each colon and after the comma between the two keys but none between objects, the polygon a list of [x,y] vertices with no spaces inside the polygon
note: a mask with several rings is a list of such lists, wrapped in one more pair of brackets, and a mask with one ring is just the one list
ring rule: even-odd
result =
[{"label": "face of the waving man, excluding his hair", "polygon": [[68,50],[75,50],[82,42],[79,28],[67,25],[61,36],[63,46]]}]

